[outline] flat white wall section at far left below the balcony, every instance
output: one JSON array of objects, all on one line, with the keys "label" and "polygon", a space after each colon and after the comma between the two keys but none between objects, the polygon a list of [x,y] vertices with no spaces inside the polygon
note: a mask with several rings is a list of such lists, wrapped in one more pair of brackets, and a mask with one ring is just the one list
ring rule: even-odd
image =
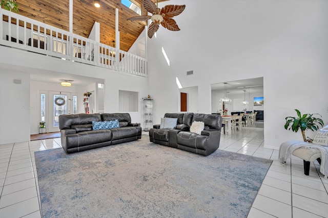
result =
[{"label": "flat white wall section at far left below the balcony", "polygon": [[29,141],[30,75],[0,68],[0,93],[0,144]]}]

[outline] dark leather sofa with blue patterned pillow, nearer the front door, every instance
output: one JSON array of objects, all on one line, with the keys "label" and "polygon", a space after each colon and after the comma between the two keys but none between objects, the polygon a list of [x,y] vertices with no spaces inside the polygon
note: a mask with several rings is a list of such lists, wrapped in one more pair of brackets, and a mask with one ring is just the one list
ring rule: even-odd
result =
[{"label": "dark leather sofa with blue patterned pillow, nearer the front door", "polygon": [[[92,121],[118,119],[119,128],[92,130]],[[110,146],[141,138],[139,124],[131,123],[129,113],[67,114],[59,116],[61,146],[67,153]]]}]

